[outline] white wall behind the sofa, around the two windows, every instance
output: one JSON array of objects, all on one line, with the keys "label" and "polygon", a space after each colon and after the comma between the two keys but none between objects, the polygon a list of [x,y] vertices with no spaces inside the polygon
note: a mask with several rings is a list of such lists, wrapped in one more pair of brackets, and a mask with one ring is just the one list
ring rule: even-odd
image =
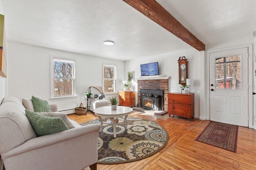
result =
[{"label": "white wall behind the sofa, around the two windows", "polygon": [[[117,90],[122,90],[124,61],[104,59],[78,53],[36,47],[21,43],[8,43],[8,96],[38,98],[57,104],[58,110],[74,109],[84,100],[89,86],[102,86],[102,63],[117,65]],[[50,100],[50,57],[75,60],[76,98]],[[114,94],[113,94],[114,95]],[[117,95],[117,94],[116,94]]]}]

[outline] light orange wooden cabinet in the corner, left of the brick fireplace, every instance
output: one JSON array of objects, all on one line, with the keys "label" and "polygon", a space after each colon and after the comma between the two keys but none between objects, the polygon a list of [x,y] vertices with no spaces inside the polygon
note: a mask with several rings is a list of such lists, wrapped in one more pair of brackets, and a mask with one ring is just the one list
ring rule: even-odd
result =
[{"label": "light orange wooden cabinet in the corner, left of the brick fireplace", "polygon": [[135,106],[135,91],[119,91],[120,106]]}]

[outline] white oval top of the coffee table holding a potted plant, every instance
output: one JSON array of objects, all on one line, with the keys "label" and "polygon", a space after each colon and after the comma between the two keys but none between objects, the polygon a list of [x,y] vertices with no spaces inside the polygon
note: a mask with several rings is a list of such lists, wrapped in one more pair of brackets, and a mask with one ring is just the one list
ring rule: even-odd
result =
[{"label": "white oval top of the coffee table holding a potted plant", "polygon": [[111,106],[98,107],[94,109],[95,115],[102,117],[119,117],[125,116],[132,112],[131,107],[116,106],[116,110],[112,110]]}]

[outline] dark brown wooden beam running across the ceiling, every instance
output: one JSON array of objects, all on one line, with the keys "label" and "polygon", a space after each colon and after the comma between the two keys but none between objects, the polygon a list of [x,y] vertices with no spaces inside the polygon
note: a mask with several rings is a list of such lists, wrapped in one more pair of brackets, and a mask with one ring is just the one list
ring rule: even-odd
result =
[{"label": "dark brown wooden beam running across the ceiling", "polygon": [[204,51],[205,45],[188,31],[178,20],[168,13],[155,0],[123,0],[176,37],[182,39],[198,51]]}]

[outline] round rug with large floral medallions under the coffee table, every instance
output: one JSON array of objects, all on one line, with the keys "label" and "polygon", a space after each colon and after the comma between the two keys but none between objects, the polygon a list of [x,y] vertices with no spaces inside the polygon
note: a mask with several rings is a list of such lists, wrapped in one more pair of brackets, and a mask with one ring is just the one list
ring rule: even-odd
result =
[{"label": "round rug with large floral medallions under the coffee table", "polygon": [[[121,164],[134,162],[152,156],[163,149],[169,139],[166,130],[154,123],[138,117],[127,117],[127,129],[124,119],[118,118],[116,138],[113,136],[113,127],[103,118],[103,127],[98,138],[98,164]],[[100,120],[82,123],[100,124]]]}]

